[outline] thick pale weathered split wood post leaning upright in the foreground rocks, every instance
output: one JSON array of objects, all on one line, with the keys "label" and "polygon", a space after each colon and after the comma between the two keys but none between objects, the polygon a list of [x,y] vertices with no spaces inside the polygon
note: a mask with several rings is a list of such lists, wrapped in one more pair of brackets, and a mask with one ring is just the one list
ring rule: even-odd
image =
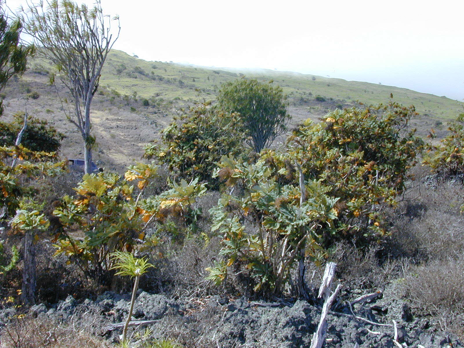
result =
[{"label": "thick pale weathered split wood post leaning upright in the foreground rocks", "polygon": [[321,288],[319,289],[319,298],[324,297],[324,304],[322,306],[321,319],[319,320],[319,325],[317,326],[316,332],[313,335],[310,348],[321,348],[322,344],[325,342],[325,335],[327,333],[327,314],[329,313],[332,303],[335,301],[335,298],[342,287],[341,284],[337,285],[334,293],[330,295],[330,288],[334,281],[335,268],[337,264],[329,262],[325,266],[324,277],[322,278]]}]

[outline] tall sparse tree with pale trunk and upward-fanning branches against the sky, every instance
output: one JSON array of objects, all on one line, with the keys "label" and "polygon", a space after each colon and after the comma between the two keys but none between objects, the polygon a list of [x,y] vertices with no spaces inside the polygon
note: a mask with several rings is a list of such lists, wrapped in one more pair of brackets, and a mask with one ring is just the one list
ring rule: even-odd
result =
[{"label": "tall sparse tree with pale trunk and upward-fanning branches against the sky", "polygon": [[[90,133],[90,104],[108,52],[119,37],[119,18],[104,15],[100,0],[92,8],[69,0],[47,0],[46,6],[43,1],[27,2],[19,18],[37,46],[38,56],[56,65],[60,80],[71,92],[73,107],[68,104],[64,113],[82,135],[85,173],[90,173],[92,148],[96,144],[95,136]],[[112,20],[117,22],[115,37],[111,34]]]}]

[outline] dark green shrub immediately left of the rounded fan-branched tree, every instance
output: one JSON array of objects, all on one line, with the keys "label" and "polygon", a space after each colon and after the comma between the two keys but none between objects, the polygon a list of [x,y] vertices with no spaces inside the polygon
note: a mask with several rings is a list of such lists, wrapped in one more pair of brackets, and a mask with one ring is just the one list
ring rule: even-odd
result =
[{"label": "dark green shrub immediately left of the rounded fan-branched tree", "polygon": [[216,187],[212,179],[215,162],[222,155],[239,155],[244,149],[242,123],[236,114],[226,114],[210,105],[196,104],[187,113],[174,117],[159,142],[145,147],[145,157],[168,166],[174,179],[198,177]]}]

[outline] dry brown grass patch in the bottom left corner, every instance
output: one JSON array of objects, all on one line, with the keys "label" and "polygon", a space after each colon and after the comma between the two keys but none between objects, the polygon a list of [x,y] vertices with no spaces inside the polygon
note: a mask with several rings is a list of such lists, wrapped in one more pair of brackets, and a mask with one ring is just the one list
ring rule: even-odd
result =
[{"label": "dry brown grass patch in the bottom left corner", "polygon": [[58,322],[49,318],[14,319],[0,330],[0,348],[110,348],[91,334],[91,320],[85,324]]}]

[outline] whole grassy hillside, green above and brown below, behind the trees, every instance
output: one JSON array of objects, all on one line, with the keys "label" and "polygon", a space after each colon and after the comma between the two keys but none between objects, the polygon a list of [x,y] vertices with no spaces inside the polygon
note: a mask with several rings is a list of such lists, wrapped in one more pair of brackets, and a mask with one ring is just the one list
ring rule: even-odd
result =
[{"label": "whole grassy hillside, green above and brown below, behind the trees", "polygon": [[[52,65],[31,59],[29,70],[13,79],[5,90],[5,115],[27,110],[47,119],[67,138],[62,153],[70,158],[82,157],[82,139],[74,126],[66,121],[57,90],[48,84]],[[356,100],[380,103],[393,93],[395,100],[415,105],[420,115],[412,121],[420,135],[435,128],[437,135],[446,132],[445,123],[454,118],[462,103],[445,97],[418,93],[403,88],[345,81],[295,72],[246,69],[207,68],[164,62],[147,62],[121,51],[112,51],[104,67],[100,89],[92,104],[93,132],[99,145],[94,153],[98,165],[118,169],[140,159],[143,145],[157,138],[180,107],[198,98],[214,99],[218,86],[240,76],[273,80],[289,95],[290,114],[295,125],[307,118],[316,119],[337,107],[352,105]],[[61,98],[70,97],[58,84]],[[39,99],[27,99],[37,91]],[[322,96],[325,101],[317,101]],[[144,104],[144,99],[148,100]],[[284,138],[278,139],[282,141]]]}]

